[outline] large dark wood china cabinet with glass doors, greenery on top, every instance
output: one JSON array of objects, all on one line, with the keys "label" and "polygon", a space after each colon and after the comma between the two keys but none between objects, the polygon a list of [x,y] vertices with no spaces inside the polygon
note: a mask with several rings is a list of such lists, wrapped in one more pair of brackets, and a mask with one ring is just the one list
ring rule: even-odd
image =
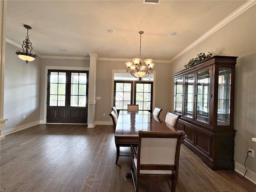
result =
[{"label": "large dark wood china cabinet with glass doors, greenery on top", "polygon": [[234,170],[236,58],[213,56],[174,74],[174,112],[184,144],[213,170]]}]

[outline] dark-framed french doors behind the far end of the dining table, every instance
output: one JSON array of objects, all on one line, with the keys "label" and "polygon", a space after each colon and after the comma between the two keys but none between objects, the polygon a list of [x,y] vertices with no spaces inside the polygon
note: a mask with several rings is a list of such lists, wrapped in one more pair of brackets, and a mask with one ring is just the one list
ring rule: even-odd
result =
[{"label": "dark-framed french doors behind the far end of the dining table", "polygon": [[139,110],[152,112],[153,82],[114,81],[114,105],[127,110],[128,104],[138,104]]}]

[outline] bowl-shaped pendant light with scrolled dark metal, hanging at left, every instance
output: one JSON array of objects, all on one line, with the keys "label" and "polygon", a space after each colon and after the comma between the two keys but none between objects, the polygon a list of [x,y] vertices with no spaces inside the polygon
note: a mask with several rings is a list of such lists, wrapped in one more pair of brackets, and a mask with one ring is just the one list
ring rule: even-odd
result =
[{"label": "bowl-shaped pendant light with scrolled dark metal, hanging at left", "polygon": [[[18,55],[18,57],[24,61],[26,61],[26,63],[28,63],[29,61],[33,61],[35,58],[38,57],[37,54],[31,54],[31,51],[32,51],[32,43],[29,41],[29,38],[28,38],[28,30],[29,29],[32,29],[30,26],[28,25],[23,25],[26,29],[27,29],[27,36],[26,36],[26,39],[23,41],[23,45],[22,45],[22,49],[23,49],[23,52],[20,52],[19,50],[16,51],[16,54]],[[26,49],[26,52],[25,50]],[[30,50],[30,52],[28,53],[28,50]]]}]

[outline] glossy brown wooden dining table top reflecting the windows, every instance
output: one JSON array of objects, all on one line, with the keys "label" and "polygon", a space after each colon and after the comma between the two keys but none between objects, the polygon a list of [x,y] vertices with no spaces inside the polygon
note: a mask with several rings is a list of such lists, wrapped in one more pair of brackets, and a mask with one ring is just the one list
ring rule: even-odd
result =
[{"label": "glossy brown wooden dining table top reflecting the windows", "polygon": [[139,130],[179,131],[148,111],[121,110],[114,133],[117,143],[137,143]]}]

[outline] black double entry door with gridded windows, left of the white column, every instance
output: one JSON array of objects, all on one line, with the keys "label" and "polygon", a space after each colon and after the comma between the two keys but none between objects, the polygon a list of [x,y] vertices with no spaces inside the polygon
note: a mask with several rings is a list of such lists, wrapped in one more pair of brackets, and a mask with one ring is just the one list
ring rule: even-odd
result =
[{"label": "black double entry door with gridded windows, left of the white column", "polygon": [[47,123],[87,124],[88,71],[48,70]]}]

